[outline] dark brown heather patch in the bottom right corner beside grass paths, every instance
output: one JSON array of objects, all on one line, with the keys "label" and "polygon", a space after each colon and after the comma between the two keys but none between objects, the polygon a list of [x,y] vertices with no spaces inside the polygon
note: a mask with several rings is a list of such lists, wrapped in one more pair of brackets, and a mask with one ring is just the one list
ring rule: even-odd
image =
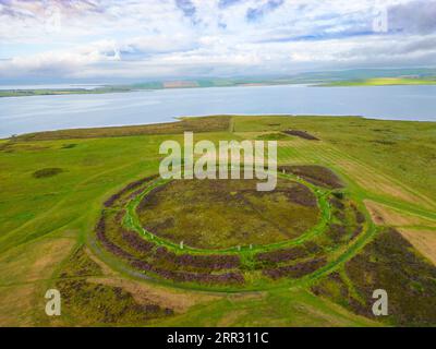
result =
[{"label": "dark brown heather patch in the bottom right corner beside grass paths", "polygon": [[[347,262],[344,273],[348,281],[339,274],[331,274],[320,279],[312,290],[359,315],[389,325],[436,324],[436,267],[395,229],[379,232]],[[388,316],[375,318],[372,313],[372,294],[376,289],[388,292]]]}]

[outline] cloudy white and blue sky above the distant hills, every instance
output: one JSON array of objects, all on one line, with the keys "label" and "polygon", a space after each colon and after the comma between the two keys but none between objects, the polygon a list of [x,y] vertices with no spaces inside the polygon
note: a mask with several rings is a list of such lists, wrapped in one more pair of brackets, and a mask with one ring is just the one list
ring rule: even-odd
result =
[{"label": "cloudy white and blue sky above the distant hills", "polygon": [[435,62],[436,0],[0,0],[0,84]]}]

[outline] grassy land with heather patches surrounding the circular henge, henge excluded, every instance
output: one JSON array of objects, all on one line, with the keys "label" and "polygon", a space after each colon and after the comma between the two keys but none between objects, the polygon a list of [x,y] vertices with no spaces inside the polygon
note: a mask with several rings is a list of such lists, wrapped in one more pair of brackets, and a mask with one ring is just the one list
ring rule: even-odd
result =
[{"label": "grassy land with heather patches surrounding the circular henge, henge excluded", "polygon": [[[283,136],[291,129],[320,141]],[[159,145],[182,143],[183,131],[194,131],[195,141],[274,139],[279,165],[334,170],[365,214],[364,231],[331,249],[319,233],[314,241],[327,249],[325,266],[298,280],[263,280],[274,287],[262,290],[207,290],[131,273],[94,243],[104,203],[157,173]],[[435,139],[432,122],[265,116],[1,142],[0,325],[434,326],[426,309],[436,301]],[[384,287],[392,313],[380,318],[370,313],[368,294]],[[49,288],[65,296],[59,317],[44,312]]]}]

